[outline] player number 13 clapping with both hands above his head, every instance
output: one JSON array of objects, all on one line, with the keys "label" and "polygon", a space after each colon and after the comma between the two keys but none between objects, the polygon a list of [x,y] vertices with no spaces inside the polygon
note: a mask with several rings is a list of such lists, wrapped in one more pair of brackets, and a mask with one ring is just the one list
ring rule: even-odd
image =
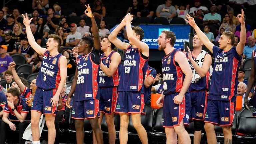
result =
[{"label": "player number 13 clapping with both hands above his head", "polygon": [[[141,124],[141,113],[144,102],[144,78],[147,70],[149,47],[141,42],[144,32],[140,27],[131,27],[133,17],[129,13],[122,22],[110,33],[108,39],[116,47],[125,50],[124,64],[118,86],[118,96],[115,112],[120,114],[120,144],[128,141],[129,115],[131,114],[133,126],[138,132],[143,144],[148,143],[147,132]],[[123,43],[116,38],[118,32],[126,26],[129,39],[128,43]]]}]

